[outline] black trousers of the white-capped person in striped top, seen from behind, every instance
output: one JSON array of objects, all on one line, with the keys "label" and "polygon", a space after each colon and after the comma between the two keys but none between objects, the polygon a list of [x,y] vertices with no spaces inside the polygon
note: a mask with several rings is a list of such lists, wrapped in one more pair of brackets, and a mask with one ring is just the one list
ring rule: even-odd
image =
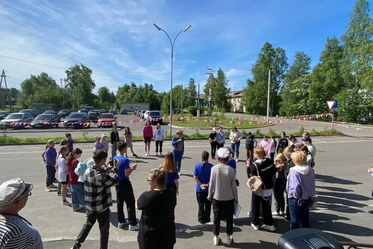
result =
[{"label": "black trousers of the white-capped person in striped top, seen from behind", "polygon": [[233,213],[234,213],[234,199],[232,200],[215,200],[212,199],[212,211],[214,213],[214,235],[219,235],[220,220],[224,216],[227,224],[226,234],[233,234]]}]

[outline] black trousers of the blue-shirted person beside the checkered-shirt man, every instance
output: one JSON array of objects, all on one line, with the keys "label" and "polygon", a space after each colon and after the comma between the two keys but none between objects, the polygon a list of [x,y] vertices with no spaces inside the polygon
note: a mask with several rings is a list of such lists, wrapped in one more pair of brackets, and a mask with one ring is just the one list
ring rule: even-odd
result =
[{"label": "black trousers of the blue-shirted person beside the checkered-shirt man", "polygon": [[136,225],[136,209],[135,209],[135,196],[134,189],[132,188],[131,181],[129,180],[119,180],[119,184],[115,186],[115,191],[117,193],[117,212],[118,212],[118,222],[124,223],[126,221],[123,206],[126,203],[128,221],[130,225]]}]

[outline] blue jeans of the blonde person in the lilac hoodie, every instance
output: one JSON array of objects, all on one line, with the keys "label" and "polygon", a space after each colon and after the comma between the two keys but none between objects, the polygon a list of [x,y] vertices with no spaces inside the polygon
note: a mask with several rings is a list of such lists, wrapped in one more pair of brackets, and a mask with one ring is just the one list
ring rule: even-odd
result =
[{"label": "blue jeans of the blonde person in the lilac hoodie", "polygon": [[298,200],[294,197],[288,198],[290,209],[290,230],[298,229],[299,223],[302,223],[302,228],[310,228],[310,206],[311,197],[307,200]]}]

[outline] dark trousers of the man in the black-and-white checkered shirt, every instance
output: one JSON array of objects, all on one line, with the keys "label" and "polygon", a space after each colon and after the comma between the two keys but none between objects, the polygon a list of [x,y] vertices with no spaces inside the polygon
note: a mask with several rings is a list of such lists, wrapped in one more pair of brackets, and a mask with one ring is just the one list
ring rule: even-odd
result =
[{"label": "dark trousers of the man in the black-and-white checkered shirt", "polygon": [[110,209],[107,208],[105,211],[100,213],[91,214],[88,212],[87,221],[83,225],[78,237],[74,242],[78,248],[81,248],[81,243],[87,239],[91,228],[98,221],[98,229],[100,229],[100,249],[107,249],[107,243],[109,243],[109,228],[110,228]]}]

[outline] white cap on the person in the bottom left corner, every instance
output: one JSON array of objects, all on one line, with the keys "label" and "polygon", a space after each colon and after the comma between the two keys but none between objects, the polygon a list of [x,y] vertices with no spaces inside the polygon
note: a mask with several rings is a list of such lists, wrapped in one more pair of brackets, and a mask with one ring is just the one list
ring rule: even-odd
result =
[{"label": "white cap on the person in the bottom left corner", "polygon": [[0,186],[0,206],[14,202],[22,194],[28,193],[34,186],[21,178],[6,181]]}]

